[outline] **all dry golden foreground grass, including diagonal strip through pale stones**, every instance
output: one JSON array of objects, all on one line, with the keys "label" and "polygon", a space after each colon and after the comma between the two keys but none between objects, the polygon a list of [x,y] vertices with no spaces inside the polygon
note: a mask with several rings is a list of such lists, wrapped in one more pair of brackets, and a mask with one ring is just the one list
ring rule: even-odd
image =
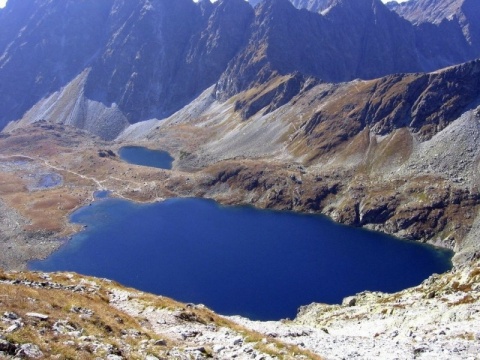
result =
[{"label": "all dry golden foreground grass, including diagonal strip through pale stones", "polygon": [[[94,355],[101,355],[93,354],[93,349],[85,346],[85,343],[82,344],[81,341],[78,341],[78,338],[73,338],[75,345],[66,343],[66,341],[72,341],[71,336],[56,334],[52,330],[54,323],[59,320],[66,320],[73,328],[82,329],[82,335],[94,336],[103,343],[111,344],[118,349],[121,349],[122,346],[125,347],[126,343],[132,350],[128,354],[124,353],[123,356],[128,359],[142,358],[136,352],[140,342],[142,340],[159,339],[159,336],[149,329],[148,322],[141,323],[143,319],[132,317],[109,304],[109,292],[112,289],[120,289],[128,291],[131,294],[131,300],[144,308],[154,307],[178,311],[184,321],[204,325],[212,324],[231,329],[242,335],[257,350],[278,359],[322,359],[311,351],[287,345],[277,339],[251,331],[215,314],[208,308],[188,307],[167,297],[138,292],[134,289],[123,288],[115,282],[107,282],[77,274],[55,273],[49,275],[51,276],[49,281],[63,286],[84,284],[88,288],[97,285],[98,290],[95,293],[77,293],[69,290],[37,289],[24,285],[0,284],[0,312],[15,312],[22,317],[25,323],[21,330],[10,334],[8,340],[20,344],[37,344],[47,358],[53,355],[61,355],[62,359],[91,359]],[[5,273],[1,270],[0,280],[45,282],[45,279],[39,273]],[[73,308],[89,309],[93,313],[91,316],[82,316],[80,313],[72,311]],[[48,315],[49,318],[46,321],[31,319],[25,316],[27,312],[42,313]],[[5,326],[0,322],[0,329]],[[138,331],[139,336],[122,338],[122,331],[126,329]],[[151,347],[147,349],[149,353],[162,358],[162,355],[164,356],[168,349],[183,346],[182,343],[173,339],[165,339],[165,336],[161,338],[167,340],[167,347]],[[205,349],[207,353],[211,353],[208,344],[205,345]]]}]

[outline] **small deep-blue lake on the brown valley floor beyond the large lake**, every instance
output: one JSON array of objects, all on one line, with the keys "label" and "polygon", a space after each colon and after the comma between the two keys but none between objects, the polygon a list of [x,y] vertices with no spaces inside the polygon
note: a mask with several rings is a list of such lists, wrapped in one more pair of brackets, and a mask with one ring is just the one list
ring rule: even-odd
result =
[{"label": "small deep-blue lake on the brown valley floor beyond the large lake", "polygon": [[118,152],[120,158],[130,164],[171,169],[173,157],[166,151],[150,150],[141,146],[124,146]]}]

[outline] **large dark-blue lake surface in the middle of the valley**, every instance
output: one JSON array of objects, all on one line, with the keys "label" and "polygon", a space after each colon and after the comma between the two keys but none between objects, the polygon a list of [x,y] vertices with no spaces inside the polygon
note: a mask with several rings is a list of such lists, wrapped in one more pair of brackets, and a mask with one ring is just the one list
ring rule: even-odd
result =
[{"label": "large dark-blue lake surface in the middle of the valley", "polygon": [[363,290],[398,291],[451,267],[451,252],[322,216],[202,199],[98,199],[72,220],[88,227],[31,269],[107,277],[252,319],[292,318],[301,305]]}]

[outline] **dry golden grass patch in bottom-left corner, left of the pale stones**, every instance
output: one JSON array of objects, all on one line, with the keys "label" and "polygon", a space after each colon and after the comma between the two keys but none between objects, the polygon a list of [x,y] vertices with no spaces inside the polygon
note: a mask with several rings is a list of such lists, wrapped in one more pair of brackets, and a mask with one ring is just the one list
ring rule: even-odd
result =
[{"label": "dry golden grass patch in bottom-left corner, left of the pale stones", "polygon": [[[45,281],[38,278],[36,274],[23,273],[21,277],[30,281]],[[14,276],[0,274],[0,279],[9,278]],[[74,276],[72,279],[63,275],[52,276],[52,281],[70,286],[78,283],[79,279],[79,276]],[[89,294],[0,284],[0,312],[2,314],[5,311],[14,312],[25,324],[20,330],[8,334],[7,339],[19,344],[37,344],[46,358],[61,355],[63,359],[92,359],[95,356],[106,355],[98,352],[94,354],[94,348],[80,341],[78,335],[72,336],[53,331],[55,322],[66,321],[69,326],[81,331],[82,336],[93,336],[98,341],[110,344],[117,349],[125,349],[125,344],[128,344],[132,347],[132,351],[123,355],[129,359],[142,358],[136,353],[140,348],[140,342],[158,339],[158,336],[142,326],[137,319],[110,306],[106,291],[107,288],[103,288],[97,293]],[[72,311],[74,308],[88,309],[92,314],[85,316]],[[26,316],[28,312],[38,312],[48,315],[49,318],[45,321],[29,318]],[[5,326],[0,322],[0,328]],[[139,335],[135,338],[122,337],[122,331],[127,329],[135,330]],[[157,349],[147,350],[151,354],[160,356],[164,349],[157,347]]]}]

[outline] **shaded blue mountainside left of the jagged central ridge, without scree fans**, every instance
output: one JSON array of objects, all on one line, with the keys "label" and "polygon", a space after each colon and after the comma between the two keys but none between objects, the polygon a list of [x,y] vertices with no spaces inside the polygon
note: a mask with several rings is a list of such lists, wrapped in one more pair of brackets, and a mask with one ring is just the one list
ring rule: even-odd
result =
[{"label": "shaded blue mountainside left of the jagged central ridge, without scree fans", "polygon": [[[131,123],[169,115],[217,81],[251,18],[243,0],[9,1],[0,13],[0,128],[86,69],[85,100]],[[98,128],[84,123],[88,106],[73,122]]]}]

